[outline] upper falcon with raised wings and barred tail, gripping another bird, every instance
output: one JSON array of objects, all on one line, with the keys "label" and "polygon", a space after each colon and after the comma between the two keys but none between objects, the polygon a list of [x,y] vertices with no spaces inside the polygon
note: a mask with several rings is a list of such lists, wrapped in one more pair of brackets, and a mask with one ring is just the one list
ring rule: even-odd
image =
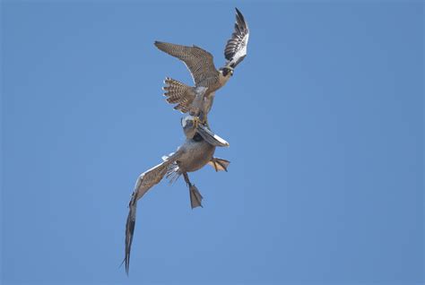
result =
[{"label": "upper falcon with raised wings and barred tail, gripping another bird", "polygon": [[[247,56],[248,38],[247,22],[236,8],[235,28],[224,48],[224,57],[227,61],[218,70],[214,66],[212,54],[203,48],[155,41],[154,45],[157,48],[185,63],[195,82],[195,86],[188,86],[167,77],[163,87],[167,101],[170,104],[177,104],[174,108],[182,113],[189,112],[190,115],[199,117],[202,123],[206,122],[206,115],[212,108],[215,91],[229,81],[234,68]],[[195,122],[197,122],[196,119]]]}]

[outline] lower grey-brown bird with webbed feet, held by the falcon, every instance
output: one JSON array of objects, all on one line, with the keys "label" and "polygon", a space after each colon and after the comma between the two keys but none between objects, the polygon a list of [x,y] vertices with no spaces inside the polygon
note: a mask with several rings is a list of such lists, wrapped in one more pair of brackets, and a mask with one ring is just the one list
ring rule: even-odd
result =
[{"label": "lower grey-brown bird with webbed feet, held by the falcon", "polygon": [[134,225],[136,216],[137,201],[143,197],[152,186],[160,183],[163,177],[168,177],[171,182],[183,175],[186,185],[189,187],[189,197],[192,209],[201,206],[203,196],[189,180],[187,172],[193,172],[204,165],[210,164],[215,171],[224,170],[230,164],[228,160],[214,158],[215,148],[229,146],[229,142],[221,139],[217,134],[205,125],[196,125],[195,117],[187,116],[181,120],[183,131],[186,134],[186,141],[174,153],[162,157],[162,162],[143,172],[136,181],[134,192],[130,203],[126,220],[126,251],[123,263],[126,263],[126,273],[130,266],[130,250],[134,237]]}]

